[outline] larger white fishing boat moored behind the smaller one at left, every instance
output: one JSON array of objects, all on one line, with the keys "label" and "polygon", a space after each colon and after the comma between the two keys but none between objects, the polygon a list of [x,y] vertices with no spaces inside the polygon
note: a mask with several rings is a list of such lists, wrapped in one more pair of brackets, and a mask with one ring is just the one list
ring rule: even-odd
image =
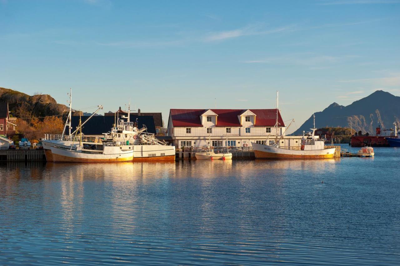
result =
[{"label": "larger white fishing boat moored behind the smaller one at left", "polygon": [[[72,114],[72,91],[69,93],[70,112],[66,120],[62,135],[46,134],[42,139],[42,145],[48,161],[53,161],[52,147],[70,148],[78,147],[79,140],[74,137],[77,130],[71,132],[71,114]],[[82,123],[82,126],[100,109],[102,105],[98,105],[98,109]],[[130,105],[128,114],[130,113]],[[124,119],[126,120],[124,120]],[[68,134],[67,134],[68,131]],[[156,139],[154,134],[147,133],[146,127],[138,129],[136,122],[131,122],[129,115],[127,117],[115,117],[115,124],[110,132],[104,133],[102,137],[83,137],[83,145],[93,145],[102,143],[104,140],[112,140],[120,143],[122,149],[134,151],[134,161],[174,161],[175,146],[167,145],[165,142]]]}]

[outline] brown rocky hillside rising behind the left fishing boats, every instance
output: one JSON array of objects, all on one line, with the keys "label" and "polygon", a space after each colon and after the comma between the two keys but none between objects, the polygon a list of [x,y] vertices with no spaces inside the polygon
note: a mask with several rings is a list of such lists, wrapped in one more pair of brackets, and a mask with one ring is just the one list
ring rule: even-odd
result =
[{"label": "brown rocky hillside rising behind the left fishing boats", "polygon": [[14,117],[44,117],[68,112],[68,107],[59,104],[48,94],[28,95],[0,87],[0,101],[8,102]]}]

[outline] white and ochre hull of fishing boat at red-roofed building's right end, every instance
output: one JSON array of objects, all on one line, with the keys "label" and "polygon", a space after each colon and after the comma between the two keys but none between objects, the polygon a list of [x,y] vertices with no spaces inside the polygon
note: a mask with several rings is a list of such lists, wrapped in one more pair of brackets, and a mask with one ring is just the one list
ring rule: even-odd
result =
[{"label": "white and ochre hull of fishing boat at red-roofed building's right end", "polygon": [[252,143],[256,159],[332,159],[335,148],[323,150],[287,150]]}]

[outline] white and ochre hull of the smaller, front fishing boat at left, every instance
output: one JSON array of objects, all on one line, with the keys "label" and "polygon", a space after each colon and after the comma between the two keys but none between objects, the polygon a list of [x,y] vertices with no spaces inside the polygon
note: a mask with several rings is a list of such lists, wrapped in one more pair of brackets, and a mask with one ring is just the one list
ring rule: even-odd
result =
[{"label": "white and ochre hull of the smaller, front fishing boat at left", "polygon": [[133,160],[133,151],[120,151],[120,153],[114,154],[92,154],[52,147],[51,152],[54,163],[118,163]]}]

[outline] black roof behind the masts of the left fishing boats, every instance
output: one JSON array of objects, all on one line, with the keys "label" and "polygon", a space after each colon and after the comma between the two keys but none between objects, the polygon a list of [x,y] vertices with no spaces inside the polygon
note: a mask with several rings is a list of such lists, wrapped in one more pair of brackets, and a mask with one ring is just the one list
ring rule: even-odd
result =
[{"label": "black roof behind the masts of the left fishing boats", "polygon": [[[88,119],[89,116],[82,116],[82,123]],[[148,133],[156,133],[156,127],[154,125],[154,119],[150,115],[130,115],[130,121],[136,121],[138,118],[138,127],[146,125]],[[79,116],[73,116],[71,119],[72,130],[74,131],[79,125]],[[114,116],[94,116],[90,118],[86,124],[82,126],[82,133],[84,135],[102,135],[111,130],[114,124]]]}]

